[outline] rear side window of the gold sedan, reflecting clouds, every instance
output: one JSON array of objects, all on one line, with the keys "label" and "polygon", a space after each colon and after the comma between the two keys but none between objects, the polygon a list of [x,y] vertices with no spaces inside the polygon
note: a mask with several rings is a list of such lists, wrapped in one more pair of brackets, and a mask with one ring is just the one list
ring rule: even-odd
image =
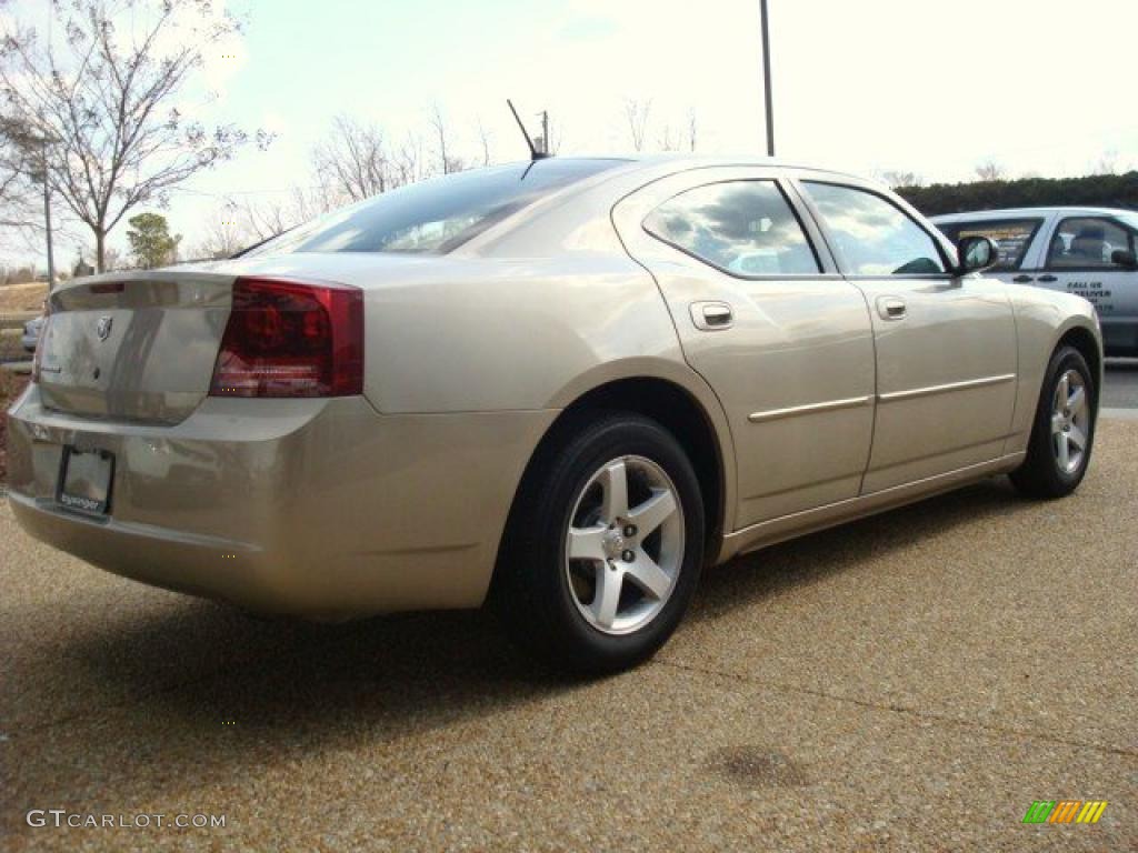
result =
[{"label": "rear side window of the gold sedan, reflecting clouds", "polygon": [[774,181],[727,181],[696,187],[650,213],[644,229],[735,275],[820,272],[801,223]]}]

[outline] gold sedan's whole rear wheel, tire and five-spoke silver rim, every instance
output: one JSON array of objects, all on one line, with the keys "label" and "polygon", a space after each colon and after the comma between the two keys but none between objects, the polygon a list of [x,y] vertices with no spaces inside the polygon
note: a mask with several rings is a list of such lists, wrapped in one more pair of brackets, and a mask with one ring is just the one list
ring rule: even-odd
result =
[{"label": "gold sedan's whole rear wheel, tire and five-spoke silver rim", "polygon": [[560,668],[640,663],[675,630],[699,577],[703,504],[691,462],[654,421],[611,414],[536,464],[498,568],[508,629]]}]

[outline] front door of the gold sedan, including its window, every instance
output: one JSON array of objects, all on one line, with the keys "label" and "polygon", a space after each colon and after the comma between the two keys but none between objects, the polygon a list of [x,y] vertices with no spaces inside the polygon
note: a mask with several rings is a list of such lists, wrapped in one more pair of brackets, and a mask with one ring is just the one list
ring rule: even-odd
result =
[{"label": "front door of the gold sedan, including its window", "polygon": [[932,229],[884,193],[825,177],[801,188],[873,322],[877,406],[863,492],[999,456],[1016,378],[1005,285],[948,272]]}]

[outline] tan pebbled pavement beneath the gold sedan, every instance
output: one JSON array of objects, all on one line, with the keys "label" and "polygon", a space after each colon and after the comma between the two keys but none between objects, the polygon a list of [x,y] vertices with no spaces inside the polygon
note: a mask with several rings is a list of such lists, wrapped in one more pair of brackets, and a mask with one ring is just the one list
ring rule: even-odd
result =
[{"label": "tan pebbled pavement beneath the gold sedan", "polygon": [[[711,571],[652,663],[593,682],[479,613],[254,621],[5,506],[0,846],[1135,850],[1136,448],[1105,421],[1070,499],[993,481]],[[1021,822],[1064,798],[1108,805]]]}]

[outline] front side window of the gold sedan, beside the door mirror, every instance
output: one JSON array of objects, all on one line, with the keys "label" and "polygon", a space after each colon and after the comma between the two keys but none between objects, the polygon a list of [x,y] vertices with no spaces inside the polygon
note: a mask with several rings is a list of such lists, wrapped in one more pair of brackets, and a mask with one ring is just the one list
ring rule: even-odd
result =
[{"label": "front side window of the gold sedan, beside the door mirror", "polygon": [[945,272],[945,262],[932,237],[881,196],[832,183],[805,181],[802,185],[853,275]]}]

